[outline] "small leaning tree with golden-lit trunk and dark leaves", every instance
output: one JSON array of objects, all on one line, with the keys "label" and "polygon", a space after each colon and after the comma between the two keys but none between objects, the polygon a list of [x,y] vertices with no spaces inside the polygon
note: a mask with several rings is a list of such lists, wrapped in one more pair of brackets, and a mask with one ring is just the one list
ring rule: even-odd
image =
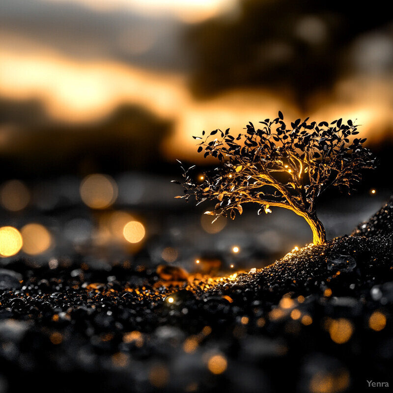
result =
[{"label": "small leaning tree with golden-lit trunk and dark leaves", "polygon": [[[326,241],[315,205],[329,187],[337,186],[350,194],[361,180],[361,170],[374,168],[374,157],[363,147],[357,126],[348,120],[308,123],[297,119],[287,127],[282,113],[270,121],[261,121],[261,129],[250,122],[246,133],[234,137],[214,130],[199,143],[198,152],[212,156],[221,166],[203,173],[200,182],[190,174],[195,166],[184,169],[184,196],[195,196],[197,204],[217,200],[214,211],[205,214],[235,218],[244,203],[259,205],[258,214],[271,213],[270,207],[283,207],[303,217],[309,224],[314,244]],[[180,161],[179,161],[180,162]],[[180,163],[181,164],[181,163]]]}]

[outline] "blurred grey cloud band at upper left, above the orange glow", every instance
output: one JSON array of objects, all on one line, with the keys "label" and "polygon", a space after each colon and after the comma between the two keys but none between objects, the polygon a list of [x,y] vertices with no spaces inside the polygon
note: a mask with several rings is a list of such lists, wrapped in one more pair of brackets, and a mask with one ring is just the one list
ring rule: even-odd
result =
[{"label": "blurred grey cloud band at upper left, above the orange glow", "polygon": [[46,46],[76,58],[176,71],[189,63],[182,24],[169,16],[120,9],[103,13],[76,2],[2,0],[0,26],[2,41]]}]

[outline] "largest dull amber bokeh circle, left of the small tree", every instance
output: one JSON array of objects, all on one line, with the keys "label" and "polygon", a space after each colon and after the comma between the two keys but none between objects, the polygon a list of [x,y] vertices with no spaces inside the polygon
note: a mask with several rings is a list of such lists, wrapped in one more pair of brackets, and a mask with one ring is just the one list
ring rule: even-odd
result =
[{"label": "largest dull amber bokeh circle, left of the small tree", "polygon": [[92,209],[105,209],[117,199],[118,188],[114,179],[105,174],[86,176],[80,187],[81,198]]}]

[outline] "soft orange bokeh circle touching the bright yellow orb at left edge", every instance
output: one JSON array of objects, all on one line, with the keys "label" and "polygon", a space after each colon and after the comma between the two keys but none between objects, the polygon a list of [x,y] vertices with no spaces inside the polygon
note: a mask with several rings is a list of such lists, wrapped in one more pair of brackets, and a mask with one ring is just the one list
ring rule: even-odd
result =
[{"label": "soft orange bokeh circle touching the bright yellow orb at left edge", "polygon": [[47,251],[52,245],[52,235],[41,224],[27,224],[21,229],[23,238],[22,251],[29,255],[38,255]]}]

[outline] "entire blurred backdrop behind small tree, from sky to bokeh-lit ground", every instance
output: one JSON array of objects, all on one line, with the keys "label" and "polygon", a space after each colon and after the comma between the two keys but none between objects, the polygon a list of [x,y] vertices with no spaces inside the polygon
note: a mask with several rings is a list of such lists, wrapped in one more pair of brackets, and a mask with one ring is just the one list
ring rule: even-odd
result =
[{"label": "entire blurred backdrop behind small tree, from sky to bokeh-lit ground", "polygon": [[0,229],[1,261],[78,253],[189,270],[217,258],[240,269],[309,243],[307,224],[287,211],[258,217],[250,206],[211,225],[202,215],[211,206],[174,199],[182,189],[170,183],[180,179],[176,159],[200,172],[214,164],[197,154],[193,135],[238,133],[279,110],[288,121],[362,125],[379,167],[351,197],[331,193],[318,210],[328,238],[349,234],[392,191],[385,7],[2,0],[0,226],[16,232]]}]

